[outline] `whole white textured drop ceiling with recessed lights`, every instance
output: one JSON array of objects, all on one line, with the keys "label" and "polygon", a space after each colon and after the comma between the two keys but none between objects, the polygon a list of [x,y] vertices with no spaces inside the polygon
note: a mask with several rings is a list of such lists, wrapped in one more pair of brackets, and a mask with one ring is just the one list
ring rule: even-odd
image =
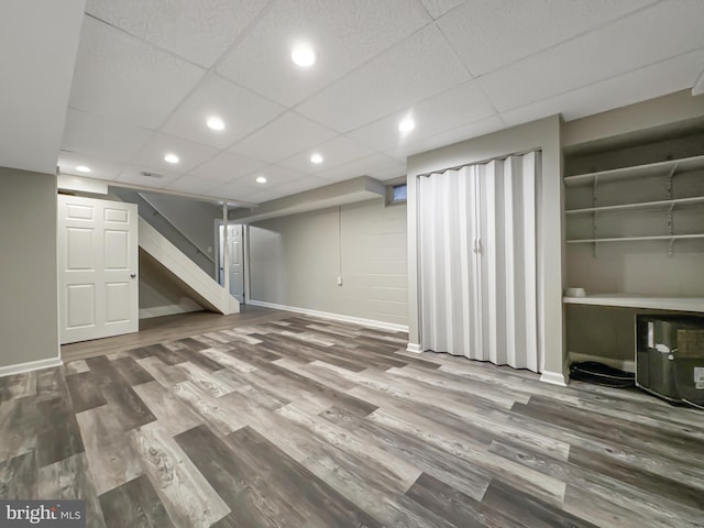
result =
[{"label": "whole white textured drop ceiling with recessed lights", "polygon": [[384,180],[418,152],[691,88],[703,26],[701,0],[88,0],[58,165],[254,204]]}]

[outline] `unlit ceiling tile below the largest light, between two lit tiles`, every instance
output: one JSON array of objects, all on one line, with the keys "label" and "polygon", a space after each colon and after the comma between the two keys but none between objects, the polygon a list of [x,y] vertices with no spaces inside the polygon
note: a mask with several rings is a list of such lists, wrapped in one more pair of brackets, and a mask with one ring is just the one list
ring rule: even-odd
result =
[{"label": "unlit ceiling tile below the largest light, between two lit tiles", "polygon": [[279,116],[263,129],[230,147],[230,152],[276,163],[338,135],[295,112]]}]

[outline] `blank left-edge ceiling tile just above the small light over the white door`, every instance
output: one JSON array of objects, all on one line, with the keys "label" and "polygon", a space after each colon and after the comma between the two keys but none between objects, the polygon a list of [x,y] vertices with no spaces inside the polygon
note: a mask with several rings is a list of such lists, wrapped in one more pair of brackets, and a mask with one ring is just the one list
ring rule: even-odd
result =
[{"label": "blank left-edge ceiling tile just above the small light over the white door", "polygon": [[94,154],[106,160],[129,161],[153,133],[124,121],[69,108],[62,150]]}]

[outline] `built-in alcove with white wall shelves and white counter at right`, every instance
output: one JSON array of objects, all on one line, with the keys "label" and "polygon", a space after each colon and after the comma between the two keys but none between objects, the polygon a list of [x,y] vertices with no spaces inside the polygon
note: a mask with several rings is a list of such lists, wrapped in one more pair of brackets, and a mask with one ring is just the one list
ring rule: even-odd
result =
[{"label": "built-in alcove with white wall shelves and white counter at right", "polygon": [[704,314],[704,120],[564,154],[568,361],[634,371],[639,312]]}]

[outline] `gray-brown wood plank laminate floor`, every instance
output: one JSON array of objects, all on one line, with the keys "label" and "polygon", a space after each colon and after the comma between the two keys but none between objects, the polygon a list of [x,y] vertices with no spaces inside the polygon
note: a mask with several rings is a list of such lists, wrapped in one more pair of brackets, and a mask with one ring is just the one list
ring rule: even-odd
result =
[{"label": "gray-brown wood plank laminate floor", "polygon": [[248,317],[1,378],[0,497],[82,498],[90,527],[704,526],[701,411]]}]

